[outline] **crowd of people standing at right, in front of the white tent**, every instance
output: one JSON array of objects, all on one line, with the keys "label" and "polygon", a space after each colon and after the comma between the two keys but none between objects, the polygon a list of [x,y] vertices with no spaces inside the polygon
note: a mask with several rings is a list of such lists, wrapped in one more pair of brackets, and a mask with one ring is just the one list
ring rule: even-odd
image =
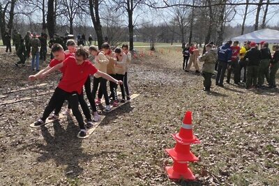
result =
[{"label": "crowd of people standing at right, in front of the white tent", "polygon": [[[191,55],[194,56],[195,45],[190,47],[186,45],[183,49],[183,70],[186,72],[190,69],[192,63]],[[279,45],[273,45],[272,52],[269,49],[268,42],[244,42],[239,47],[239,42],[228,40],[224,45],[216,47],[213,43],[206,45],[206,52],[203,56],[198,57],[199,61],[204,62],[202,66],[202,75],[204,77],[204,91],[210,91],[211,77],[217,70],[216,86],[224,87],[224,78],[227,71],[227,84],[230,84],[231,74],[234,72],[234,84],[245,84],[246,88],[265,88],[264,78],[269,88],[276,88],[276,72],[279,68]],[[195,72],[199,73],[197,62]],[[185,65],[186,64],[186,65]],[[241,73],[243,72],[243,73]],[[242,74],[242,75],[241,75]],[[243,79],[241,80],[241,77]]]}]

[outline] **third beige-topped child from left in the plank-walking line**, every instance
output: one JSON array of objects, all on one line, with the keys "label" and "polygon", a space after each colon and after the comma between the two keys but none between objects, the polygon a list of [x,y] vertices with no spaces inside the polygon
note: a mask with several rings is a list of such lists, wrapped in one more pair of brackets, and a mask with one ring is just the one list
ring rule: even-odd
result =
[{"label": "third beige-topped child from left in the plank-walking line", "polygon": [[[127,55],[124,52],[122,52],[120,48],[116,48],[114,52],[117,59],[115,63],[116,79],[123,82],[124,75],[126,72]],[[120,85],[120,88],[121,88],[121,95],[122,95],[122,100],[120,100],[120,102],[126,102],[123,84]]]}]

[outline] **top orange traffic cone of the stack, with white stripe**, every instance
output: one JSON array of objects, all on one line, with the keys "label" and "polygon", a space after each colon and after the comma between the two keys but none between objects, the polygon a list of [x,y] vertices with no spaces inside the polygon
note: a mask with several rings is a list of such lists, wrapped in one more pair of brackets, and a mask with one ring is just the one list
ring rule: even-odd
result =
[{"label": "top orange traffic cone of the stack, with white stripe", "polygon": [[181,144],[198,144],[200,142],[199,139],[193,135],[192,113],[190,111],[186,111],[179,133],[172,134],[172,137]]}]

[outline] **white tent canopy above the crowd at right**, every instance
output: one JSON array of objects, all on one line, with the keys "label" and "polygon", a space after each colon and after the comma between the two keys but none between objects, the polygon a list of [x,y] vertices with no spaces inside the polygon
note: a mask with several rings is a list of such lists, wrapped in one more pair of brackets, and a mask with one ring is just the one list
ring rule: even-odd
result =
[{"label": "white tent canopy above the crowd at right", "polygon": [[232,38],[232,41],[238,40],[239,42],[244,42],[247,40],[259,43],[261,41],[278,43],[279,42],[279,31],[272,29],[262,29],[259,31],[253,31],[250,33],[243,34]]}]

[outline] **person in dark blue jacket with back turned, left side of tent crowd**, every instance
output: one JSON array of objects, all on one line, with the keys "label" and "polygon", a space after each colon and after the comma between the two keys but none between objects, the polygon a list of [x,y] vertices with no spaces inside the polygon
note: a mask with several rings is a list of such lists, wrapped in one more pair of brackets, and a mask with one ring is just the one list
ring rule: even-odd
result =
[{"label": "person in dark blue jacket with back turned, left side of tent crowd", "polygon": [[218,48],[218,72],[216,75],[216,85],[224,87],[223,81],[228,63],[232,61],[232,41],[229,40]]}]

